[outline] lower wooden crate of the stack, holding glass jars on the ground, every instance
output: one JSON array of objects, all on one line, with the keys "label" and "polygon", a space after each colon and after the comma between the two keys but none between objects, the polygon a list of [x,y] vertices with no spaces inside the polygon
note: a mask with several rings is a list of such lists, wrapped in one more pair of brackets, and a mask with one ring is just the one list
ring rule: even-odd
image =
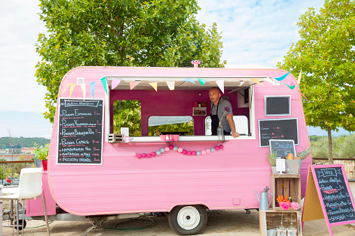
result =
[{"label": "lower wooden crate of the stack, holding glass jars on the ground", "polygon": [[[276,229],[281,223],[282,211],[259,210],[260,233],[267,235],[267,230]],[[292,216],[292,217],[291,217]],[[297,235],[302,236],[302,212],[301,211],[285,211],[283,212],[282,222],[285,228],[291,226],[297,229]]]}]

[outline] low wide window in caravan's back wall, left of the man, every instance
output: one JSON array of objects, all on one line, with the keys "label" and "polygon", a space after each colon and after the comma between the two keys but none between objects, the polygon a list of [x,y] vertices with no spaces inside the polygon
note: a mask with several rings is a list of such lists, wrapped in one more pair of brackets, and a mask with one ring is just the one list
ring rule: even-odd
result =
[{"label": "low wide window in caravan's back wall, left of the man", "polygon": [[159,132],[187,132],[193,135],[193,119],[191,116],[151,116],[148,120],[149,136]]}]

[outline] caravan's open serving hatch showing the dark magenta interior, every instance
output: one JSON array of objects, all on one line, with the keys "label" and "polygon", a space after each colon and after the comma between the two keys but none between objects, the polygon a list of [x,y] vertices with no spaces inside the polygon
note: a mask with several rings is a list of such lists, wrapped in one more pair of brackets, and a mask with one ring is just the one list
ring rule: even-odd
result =
[{"label": "caravan's open serving hatch showing the dark magenta interior", "polygon": [[[107,104],[109,123],[106,123],[107,134],[120,134],[121,127],[130,129],[130,136],[153,137],[157,130],[163,132],[179,132],[183,136],[199,136],[209,139],[211,125],[209,115],[209,89],[216,87],[215,81],[201,84],[186,84],[186,81],[175,81],[175,89],[169,90],[166,81],[158,81],[157,89],[152,88],[151,81],[140,81],[130,89],[122,78],[119,86],[111,87],[112,78],[107,77]],[[180,85],[180,86],[178,86]],[[245,136],[255,138],[255,105],[253,82],[225,81],[222,97],[232,104],[236,131]],[[196,107],[197,104],[201,104]],[[203,108],[204,113],[195,114],[196,108]],[[176,119],[179,120],[176,122]],[[185,120],[184,120],[185,119]],[[160,120],[160,121],[159,121]],[[159,122],[160,123],[159,123]],[[202,138],[206,136],[206,138]],[[213,137],[211,137],[213,138]],[[226,139],[232,139],[227,136]],[[187,138],[190,139],[190,138]],[[155,139],[154,139],[155,140]]]}]

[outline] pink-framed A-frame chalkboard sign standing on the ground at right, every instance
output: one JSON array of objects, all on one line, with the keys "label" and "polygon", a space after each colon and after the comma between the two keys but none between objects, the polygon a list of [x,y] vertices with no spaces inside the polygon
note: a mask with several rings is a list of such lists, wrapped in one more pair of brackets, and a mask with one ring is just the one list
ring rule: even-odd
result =
[{"label": "pink-framed A-frame chalkboard sign standing on the ground at right", "polygon": [[308,171],[303,221],[325,219],[331,226],[355,223],[355,205],[344,167],[338,165],[310,166]]}]

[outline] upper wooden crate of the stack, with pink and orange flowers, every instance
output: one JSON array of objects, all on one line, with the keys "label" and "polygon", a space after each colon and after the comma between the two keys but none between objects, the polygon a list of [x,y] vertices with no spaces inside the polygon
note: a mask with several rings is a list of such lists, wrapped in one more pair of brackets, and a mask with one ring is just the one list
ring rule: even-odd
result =
[{"label": "upper wooden crate of the stack, with pink and orange flowers", "polygon": [[[301,175],[300,174],[271,174],[271,193],[273,200],[271,203],[272,210],[282,210],[276,207],[278,196],[291,196],[294,202],[301,205]],[[289,210],[292,210],[291,208]]]}]

